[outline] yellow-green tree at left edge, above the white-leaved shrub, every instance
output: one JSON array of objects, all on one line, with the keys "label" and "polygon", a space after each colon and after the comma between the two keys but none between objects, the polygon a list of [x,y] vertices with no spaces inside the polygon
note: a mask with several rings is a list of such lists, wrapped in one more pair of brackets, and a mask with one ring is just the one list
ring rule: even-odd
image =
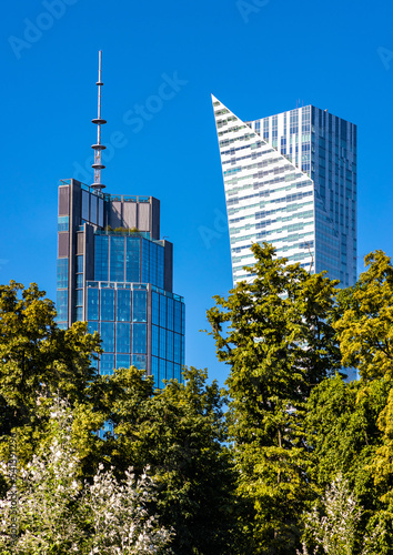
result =
[{"label": "yellow-green tree at left edge, above the white-leaved shrub", "polygon": [[31,460],[54,397],[67,396],[71,406],[87,402],[97,379],[91,360],[100,352],[85,323],[57,326],[54,304],[34,283],[0,285],[0,458],[9,456],[17,430],[18,457]]}]

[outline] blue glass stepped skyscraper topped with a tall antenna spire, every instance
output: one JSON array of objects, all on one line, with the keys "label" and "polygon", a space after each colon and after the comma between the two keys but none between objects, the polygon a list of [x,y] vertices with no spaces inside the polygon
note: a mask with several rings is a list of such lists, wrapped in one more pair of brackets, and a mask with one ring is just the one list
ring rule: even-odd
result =
[{"label": "blue glass stepped skyscraper topped with a tall antenna spire", "polygon": [[134,365],[162,380],[181,380],[184,302],[172,291],[173,248],[160,240],[160,201],[111,195],[101,183],[101,56],[94,183],[59,186],[58,324],[88,322],[104,353],[101,374]]}]

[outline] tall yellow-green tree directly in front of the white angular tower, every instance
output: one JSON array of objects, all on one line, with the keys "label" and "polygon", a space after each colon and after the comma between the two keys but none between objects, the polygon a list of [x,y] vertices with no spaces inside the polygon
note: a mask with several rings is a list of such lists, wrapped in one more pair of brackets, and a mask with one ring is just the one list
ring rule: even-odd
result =
[{"label": "tall yellow-green tree directly in front of the white angular tower", "polygon": [[336,281],[310,275],[253,244],[252,283],[240,282],[208,311],[220,361],[230,365],[230,436],[238,491],[252,502],[243,516],[253,553],[293,554],[310,498],[302,407],[312,389],[339,367],[330,325]]}]

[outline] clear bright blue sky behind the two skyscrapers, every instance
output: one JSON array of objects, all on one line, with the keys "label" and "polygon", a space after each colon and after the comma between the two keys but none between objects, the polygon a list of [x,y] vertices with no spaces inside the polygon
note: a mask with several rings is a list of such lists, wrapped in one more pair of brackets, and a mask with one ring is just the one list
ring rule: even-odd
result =
[{"label": "clear bright blue sky behind the two skyscrapers", "polygon": [[187,364],[228,374],[199,332],[232,286],[211,93],[244,120],[301,102],[356,123],[359,271],[372,250],[393,254],[391,0],[19,0],[3,9],[0,48],[1,283],[56,299],[57,188],[92,181],[99,49],[105,191],[161,200]]}]

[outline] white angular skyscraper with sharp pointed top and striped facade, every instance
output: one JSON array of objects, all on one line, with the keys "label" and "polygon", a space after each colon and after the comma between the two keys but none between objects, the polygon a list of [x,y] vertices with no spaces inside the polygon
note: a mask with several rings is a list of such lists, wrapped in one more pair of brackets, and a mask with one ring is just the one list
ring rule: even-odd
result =
[{"label": "white angular skyscraper with sharp pointed top and striped facade", "polygon": [[242,121],[213,97],[234,283],[250,246],[356,281],[356,125],[313,105]]}]

